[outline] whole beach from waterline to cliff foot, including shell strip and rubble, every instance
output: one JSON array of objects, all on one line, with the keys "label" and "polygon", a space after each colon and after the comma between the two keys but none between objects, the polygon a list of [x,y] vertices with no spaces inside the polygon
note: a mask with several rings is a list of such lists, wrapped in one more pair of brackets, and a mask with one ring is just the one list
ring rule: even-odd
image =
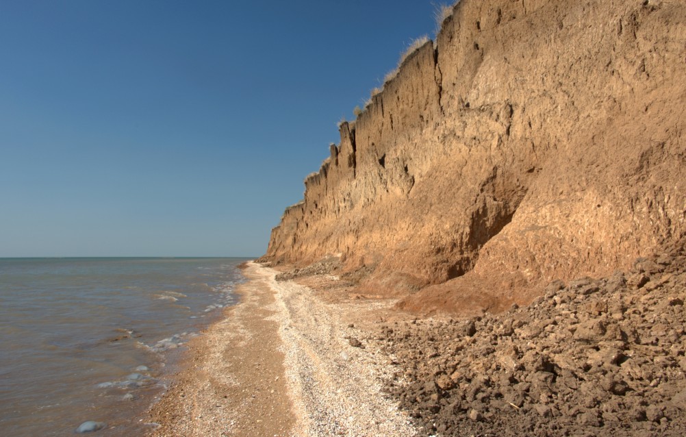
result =
[{"label": "whole beach from waterline to cliff foot, including shell strip and rubble", "polygon": [[500,314],[417,318],[335,260],[248,263],[241,303],[147,421],[152,436],[683,436],[685,265],[676,250]]}]

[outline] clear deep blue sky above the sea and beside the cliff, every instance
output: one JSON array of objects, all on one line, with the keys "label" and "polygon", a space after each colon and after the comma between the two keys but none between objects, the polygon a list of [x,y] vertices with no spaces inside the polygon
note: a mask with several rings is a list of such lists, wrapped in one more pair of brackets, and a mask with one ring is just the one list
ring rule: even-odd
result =
[{"label": "clear deep blue sky above the sea and beside the cliff", "polygon": [[258,256],[437,1],[0,3],[0,257]]}]

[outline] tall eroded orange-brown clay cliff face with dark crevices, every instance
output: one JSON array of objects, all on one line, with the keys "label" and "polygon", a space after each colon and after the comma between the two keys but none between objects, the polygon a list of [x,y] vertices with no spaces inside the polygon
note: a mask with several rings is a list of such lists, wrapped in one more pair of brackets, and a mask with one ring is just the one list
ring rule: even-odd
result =
[{"label": "tall eroded orange-brown clay cliff face with dark crevices", "polygon": [[686,235],[686,3],[462,0],[266,259],[340,255],[418,311],[498,311]]}]

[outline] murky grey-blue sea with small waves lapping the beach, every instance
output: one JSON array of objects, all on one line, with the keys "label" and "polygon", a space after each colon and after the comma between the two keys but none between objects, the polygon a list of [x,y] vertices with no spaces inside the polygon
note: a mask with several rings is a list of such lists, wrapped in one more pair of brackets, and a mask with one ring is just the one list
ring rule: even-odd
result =
[{"label": "murky grey-blue sea with small waves lapping the beach", "polygon": [[242,261],[0,259],[0,434],[143,434],[185,342],[235,303]]}]

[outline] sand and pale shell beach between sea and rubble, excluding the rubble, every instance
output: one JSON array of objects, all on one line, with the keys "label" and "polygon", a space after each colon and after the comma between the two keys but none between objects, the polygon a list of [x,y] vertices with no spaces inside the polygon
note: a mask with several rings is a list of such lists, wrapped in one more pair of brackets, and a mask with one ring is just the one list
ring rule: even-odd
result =
[{"label": "sand and pale shell beach between sea and rubble, excluding the rubble", "polygon": [[191,343],[150,410],[147,421],[159,424],[150,436],[415,435],[382,393],[392,360],[351,321],[383,320],[392,302],[311,290],[278,273],[248,263],[241,303]]}]

